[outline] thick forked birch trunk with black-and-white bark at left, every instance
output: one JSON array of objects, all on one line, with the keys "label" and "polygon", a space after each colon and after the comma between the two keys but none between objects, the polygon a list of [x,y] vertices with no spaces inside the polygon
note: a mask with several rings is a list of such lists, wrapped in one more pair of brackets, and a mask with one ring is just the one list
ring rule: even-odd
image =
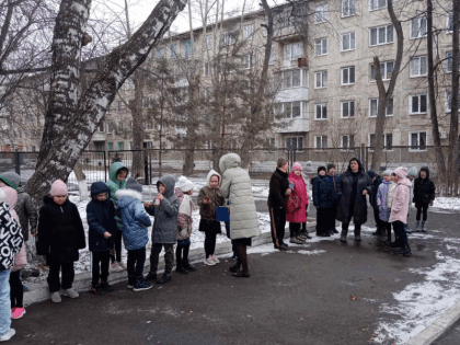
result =
[{"label": "thick forked birch trunk with black-and-white bark at left", "polygon": [[90,0],[62,0],[56,19],[48,110],[36,172],[26,186],[37,203],[55,180],[67,180],[116,92],[146,60],[186,0],[161,0],[133,37],[103,59],[79,97],[80,48],[90,4]]}]

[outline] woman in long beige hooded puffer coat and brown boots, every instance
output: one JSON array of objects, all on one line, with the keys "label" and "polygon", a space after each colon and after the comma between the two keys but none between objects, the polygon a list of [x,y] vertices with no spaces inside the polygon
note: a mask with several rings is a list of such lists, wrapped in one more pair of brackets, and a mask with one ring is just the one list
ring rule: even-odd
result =
[{"label": "woman in long beige hooded puffer coat and brown boots", "polygon": [[241,158],[237,153],[228,153],[220,158],[219,169],[222,173],[220,191],[230,202],[230,238],[233,250],[238,253],[238,262],[230,267],[230,272],[235,277],[249,278],[251,275],[246,249],[252,244],[252,238],[258,235],[260,230],[251,177],[240,165]]}]

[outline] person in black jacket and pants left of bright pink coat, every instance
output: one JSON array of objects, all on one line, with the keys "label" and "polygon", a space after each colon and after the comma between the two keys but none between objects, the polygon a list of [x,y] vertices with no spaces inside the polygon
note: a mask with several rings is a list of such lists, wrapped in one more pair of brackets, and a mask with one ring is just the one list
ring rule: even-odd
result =
[{"label": "person in black jacket and pants left of bright pink coat", "polygon": [[284,242],[287,198],[292,192],[292,189],[289,188],[288,170],[288,160],[279,158],[277,168],[269,180],[267,204],[269,209],[272,240],[275,249],[278,250],[286,250],[288,248]]}]

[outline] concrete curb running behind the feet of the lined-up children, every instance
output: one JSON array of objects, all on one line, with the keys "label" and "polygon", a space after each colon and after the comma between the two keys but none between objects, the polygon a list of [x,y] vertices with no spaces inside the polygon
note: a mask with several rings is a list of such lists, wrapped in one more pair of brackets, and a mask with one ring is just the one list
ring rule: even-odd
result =
[{"label": "concrete curb running behind the feet of the lined-up children", "polygon": [[[312,232],[315,231],[315,222],[312,221],[308,225],[308,231]],[[286,228],[286,234],[285,238],[289,238],[289,228]],[[272,242],[272,233],[271,232],[264,232],[261,233],[258,237],[253,238],[252,240],[252,246],[257,246],[266,243]],[[188,258],[191,263],[202,263],[204,257],[204,249],[203,248],[196,248],[194,250],[189,251]],[[226,255],[232,253],[231,249],[231,242],[225,242],[225,243],[217,243],[216,244],[216,255]],[[146,260],[146,265],[143,267],[143,272],[148,272],[150,268],[150,262]],[[159,264],[158,264],[159,271],[164,269],[164,258],[161,256]],[[108,276],[108,283],[111,285],[127,281],[128,276],[126,271],[122,272],[111,272]],[[48,283],[46,279],[39,281],[39,283],[27,283],[28,291],[24,292],[24,307],[31,306],[33,303],[43,302],[45,300],[50,299],[49,289],[48,289]],[[72,288],[78,292],[85,292],[89,291],[91,287],[91,272],[83,272],[76,274],[76,277],[73,279]]]}]

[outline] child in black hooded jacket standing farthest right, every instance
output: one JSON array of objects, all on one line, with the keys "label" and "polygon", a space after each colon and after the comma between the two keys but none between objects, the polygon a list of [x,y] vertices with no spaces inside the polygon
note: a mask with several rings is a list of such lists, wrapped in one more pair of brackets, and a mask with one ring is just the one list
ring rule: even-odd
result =
[{"label": "child in black hooded jacket standing farthest right", "polygon": [[[429,180],[428,166],[422,166],[418,172],[418,177],[414,182],[414,203],[417,209],[416,216],[416,228],[417,232],[426,232],[426,220],[428,218],[428,207],[433,206],[435,200],[436,186],[435,183]],[[421,216],[423,211],[423,220],[421,225]]]}]

